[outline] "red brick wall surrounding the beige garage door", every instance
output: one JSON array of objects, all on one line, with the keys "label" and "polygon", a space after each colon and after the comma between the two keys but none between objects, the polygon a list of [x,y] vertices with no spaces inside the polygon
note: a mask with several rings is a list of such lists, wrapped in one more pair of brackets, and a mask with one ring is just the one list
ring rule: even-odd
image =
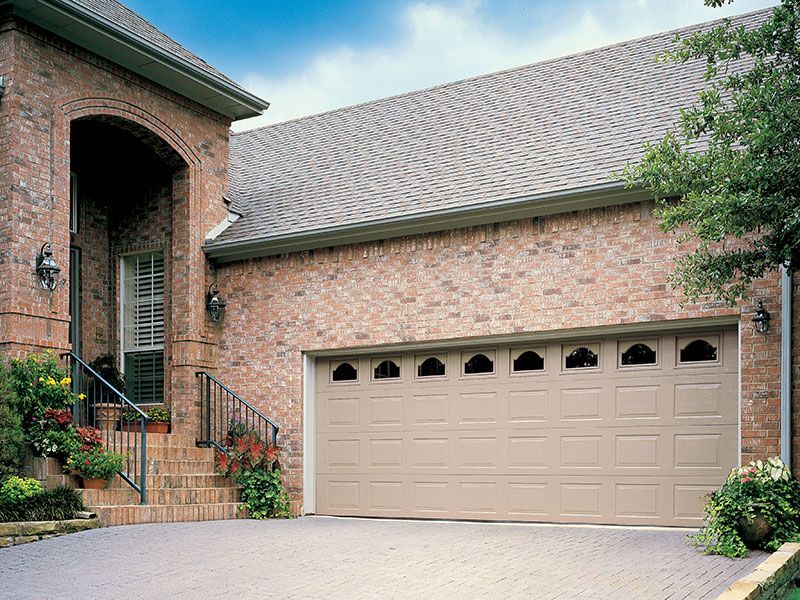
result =
[{"label": "red brick wall surrounding the beige garage door", "polygon": [[[681,307],[677,249],[652,204],[248,260],[219,269],[223,381],[283,426],[302,496],[302,352],[562,328],[739,315]],[[778,280],[754,293],[779,310]],[[751,310],[748,306],[747,310]],[[742,316],[744,460],[779,451],[778,335]]]}]

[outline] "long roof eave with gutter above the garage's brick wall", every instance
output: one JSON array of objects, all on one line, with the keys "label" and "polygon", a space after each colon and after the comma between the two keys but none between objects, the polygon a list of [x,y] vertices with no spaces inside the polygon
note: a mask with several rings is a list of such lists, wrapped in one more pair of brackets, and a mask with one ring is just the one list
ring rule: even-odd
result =
[{"label": "long roof eave with gutter above the garage's brick wall", "polygon": [[367,223],[337,225],[254,239],[217,242],[204,246],[203,250],[206,256],[214,262],[226,263],[260,256],[301,252],[314,248],[341,246],[640,202],[651,197],[650,193],[642,188],[626,188],[622,182],[613,181],[570,190],[488,201],[468,207],[390,217]]}]

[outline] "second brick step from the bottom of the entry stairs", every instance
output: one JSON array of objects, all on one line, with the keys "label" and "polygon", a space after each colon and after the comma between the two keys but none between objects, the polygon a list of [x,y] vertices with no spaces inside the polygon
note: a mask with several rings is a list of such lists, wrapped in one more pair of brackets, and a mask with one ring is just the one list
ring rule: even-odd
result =
[{"label": "second brick step from the bottom of the entry stairs", "polygon": [[[81,490],[83,502],[93,508],[101,506],[124,506],[139,503],[139,494],[132,488],[108,488],[105,490]],[[227,504],[239,502],[241,491],[236,487],[207,488],[150,488],[147,490],[148,505]]]}]

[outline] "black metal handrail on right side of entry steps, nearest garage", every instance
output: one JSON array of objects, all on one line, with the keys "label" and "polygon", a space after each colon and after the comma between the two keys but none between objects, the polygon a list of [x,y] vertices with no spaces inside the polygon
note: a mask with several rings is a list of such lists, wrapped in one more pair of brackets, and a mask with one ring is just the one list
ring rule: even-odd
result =
[{"label": "black metal handrail on right side of entry steps, nearest garage", "polygon": [[200,380],[200,427],[198,445],[227,452],[237,430],[255,432],[268,443],[278,443],[280,427],[269,417],[207,371]]}]

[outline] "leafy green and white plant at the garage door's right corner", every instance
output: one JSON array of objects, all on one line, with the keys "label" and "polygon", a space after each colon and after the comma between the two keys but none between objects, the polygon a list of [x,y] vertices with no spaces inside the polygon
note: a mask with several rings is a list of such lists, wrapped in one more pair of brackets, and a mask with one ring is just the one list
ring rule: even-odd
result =
[{"label": "leafy green and white plant at the garage door's right corner", "polygon": [[769,524],[765,550],[800,541],[800,481],[777,456],[733,469],[722,487],[709,495],[705,511],[706,526],[691,540],[706,554],[747,556],[742,519],[761,517]]}]

